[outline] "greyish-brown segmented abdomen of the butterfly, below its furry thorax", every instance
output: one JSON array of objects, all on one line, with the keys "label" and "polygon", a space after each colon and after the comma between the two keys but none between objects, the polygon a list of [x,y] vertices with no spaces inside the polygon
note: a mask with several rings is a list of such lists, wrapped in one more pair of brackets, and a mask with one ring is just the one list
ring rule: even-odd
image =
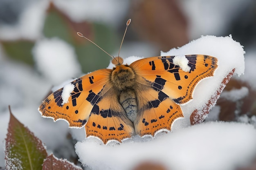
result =
[{"label": "greyish-brown segmented abdomen of the butterfly, below its furry thorax", "polygon": [[121,91],[119,102],[124,108],[127,117],[133,122],[137,117],[137,97],[131,89]]}]

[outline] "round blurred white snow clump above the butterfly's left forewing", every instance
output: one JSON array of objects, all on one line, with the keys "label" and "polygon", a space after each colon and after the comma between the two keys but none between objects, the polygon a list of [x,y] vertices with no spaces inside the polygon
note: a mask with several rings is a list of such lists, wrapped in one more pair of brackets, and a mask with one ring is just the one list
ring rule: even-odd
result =
[{"label": "round blurred white snow clump above the butterfly's left forewing", "polygon": [[54,85],[81,73],[74,47],[59,38],[38,40],[32,53],[38,71]]}]

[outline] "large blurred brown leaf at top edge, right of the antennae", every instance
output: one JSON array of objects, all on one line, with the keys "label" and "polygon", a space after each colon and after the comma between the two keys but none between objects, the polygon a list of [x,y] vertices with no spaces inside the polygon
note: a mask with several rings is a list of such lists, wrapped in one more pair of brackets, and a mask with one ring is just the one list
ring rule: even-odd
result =
[{"label": "large blurred brown leaf at top edge, right of the antennae", "polygon": [[176,0],[133,0],[130,13],[134,30],[162,51],[189,42],[187,21]]}]

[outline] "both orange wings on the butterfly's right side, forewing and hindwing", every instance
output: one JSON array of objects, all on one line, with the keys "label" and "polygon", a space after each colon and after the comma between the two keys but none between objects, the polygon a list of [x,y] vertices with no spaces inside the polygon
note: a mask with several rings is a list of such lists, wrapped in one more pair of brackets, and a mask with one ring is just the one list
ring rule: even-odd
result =
[{"label": "both orange wings on the butterfly's right side, forewing and hindwing", "polygon": [[171,130],[173,122],[183,117],[178,104],[189,102],[198,82],[213,76],[218,67],[215,57],[186,55],[191,70],[185,72],[173,64],[174,57],[150,57],[130,64],[140,77],[137,83],[139,111],[134,125],[136,133],[141,136]]}]

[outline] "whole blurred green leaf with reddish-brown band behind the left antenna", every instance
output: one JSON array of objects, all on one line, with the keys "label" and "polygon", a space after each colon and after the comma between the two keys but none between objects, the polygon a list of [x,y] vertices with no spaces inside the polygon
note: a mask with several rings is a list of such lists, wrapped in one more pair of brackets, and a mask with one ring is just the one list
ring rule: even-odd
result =
[{"label": "whole blurred green leaf with reddish-brown band behind the left antenna", "polygon": [[109,26],[91,22],[76,23],[54,5],[49,7],[43,28],[45,37],[58,37],[74,46],[83,73],[106,68],[111,58],[88,40],[83,40],[76,32],[83,33],[110,54],[119,48],[121,42],[121,38],[117,41],[117,34]]}]

